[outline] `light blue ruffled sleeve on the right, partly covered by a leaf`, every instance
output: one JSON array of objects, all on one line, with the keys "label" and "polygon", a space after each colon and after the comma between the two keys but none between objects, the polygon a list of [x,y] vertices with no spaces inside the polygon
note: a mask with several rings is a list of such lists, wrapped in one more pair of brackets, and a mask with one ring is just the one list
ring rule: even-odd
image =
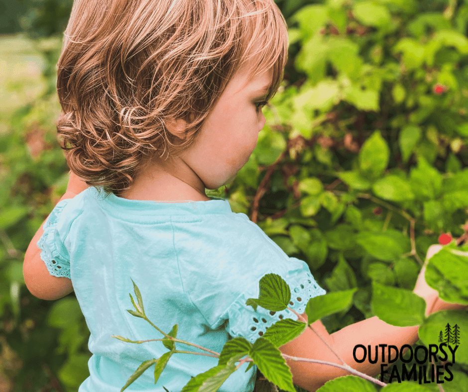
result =
[{"label": "light blue ruffled sleeve on the right, partly covered by a leaf", "polygon": [[[280,275],[286,281],[291,290],[291,301],[288,307],[302,314],[310,298],[326,294],[326,292],[312,277],[304,261],[290,258],[290,263],[286,268],[286,271],[271,271],[271,273]],[[239,295],[229,307],[227,330],[233,338],[242,336],[250,343],[253,343],[265,333],[269,326],[278,320],[284,318],[297,320],[297,316],[289,309],[274,312],[257,306],[255,311],[252,306],[245,304],[248,298],[258,298],[258,294],[259,284],[257,282]]]}]

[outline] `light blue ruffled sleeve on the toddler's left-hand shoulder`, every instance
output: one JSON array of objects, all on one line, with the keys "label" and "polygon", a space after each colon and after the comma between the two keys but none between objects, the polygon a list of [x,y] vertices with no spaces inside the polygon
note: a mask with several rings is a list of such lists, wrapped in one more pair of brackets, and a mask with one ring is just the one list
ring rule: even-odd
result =
[{"label": "light blue ruffled sleeve on the toddler's left-hand shoulder", "polygon": [[64,240],[69,232],[69,225],[63,224],[62,210],[71,199],[63,199],[57,203],[44,222],[44,233],[37,242],[50,275],[70,278],[70,257]]}]

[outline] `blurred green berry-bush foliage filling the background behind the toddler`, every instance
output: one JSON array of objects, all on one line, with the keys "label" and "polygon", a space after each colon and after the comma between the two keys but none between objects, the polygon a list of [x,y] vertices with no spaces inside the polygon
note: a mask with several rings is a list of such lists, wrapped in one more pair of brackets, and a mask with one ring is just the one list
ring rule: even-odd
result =
[{"label": "blurred green berry-bush foliage filling the background behind the toddler", "polygon": [[[43,20],[60,19],[40,4],[48,2],[34,2]],[[403,293],[398,306],[411,301],[405,290],[414,287],[428,247],[443,232],[458,242],[467,236],[468,2],[278,4],[291,42],[285,81],[264,110],[267,125],[249,161],[227,190],[209,195],[229,198],[234,212],[306,261],[330,294],[355,290],[349,306],[317,314],[334,332],[380,316],[391,289]],[[54,124],[62,31],[2,39],[0,380],[15,392],[73,392],[88,375],[89,331],[74,294],[45,302],[22,277],[24,251],[68,181]],[[432,259],[428,282],[441,282],[442,297],[466,300],[466,283],[442,260]],[[406,322],[421,321],[420,313],[411,316]],[[439,333],[439,321],[424,319],[424,328]],[[453,369],[467,383],[467,363]],[[352,380],[324,391],[360,391],[351,384],[361,381]]]}]

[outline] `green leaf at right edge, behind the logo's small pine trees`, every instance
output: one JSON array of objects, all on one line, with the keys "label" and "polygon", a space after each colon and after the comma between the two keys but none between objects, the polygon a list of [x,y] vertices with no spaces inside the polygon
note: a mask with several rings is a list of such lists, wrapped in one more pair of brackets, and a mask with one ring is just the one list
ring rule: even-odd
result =
[{"label": "green leaf at right edge, behind the logo's small pine trees", "polygon": [[[455,324],[460,329],[460,345],[455,352],[455,362],[458,364],[468,365],[468,312],[466,310],[442,310],[432,313],[419,327],[419,338],[427,346],[429,344],[437,344],[440,331],[445,332],[446,325],[450,324],[453,328]],[[455,345],[451,344],[452,348]],[[452,354],[447,349],[449,356],[448,361],[451,361]]]}]

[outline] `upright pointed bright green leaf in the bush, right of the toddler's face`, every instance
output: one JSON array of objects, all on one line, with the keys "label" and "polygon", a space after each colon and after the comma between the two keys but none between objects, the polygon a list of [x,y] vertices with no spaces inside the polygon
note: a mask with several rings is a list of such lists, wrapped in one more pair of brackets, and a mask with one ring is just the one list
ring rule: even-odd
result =
[{"label": "upright pointed bright green leaf in the bush, right of the toddler's face", "polygon": [[375,131],[359,151],[359,168],[364,173],[379,177],[387,168],[389,157],[387,142],[379,131]]}]

